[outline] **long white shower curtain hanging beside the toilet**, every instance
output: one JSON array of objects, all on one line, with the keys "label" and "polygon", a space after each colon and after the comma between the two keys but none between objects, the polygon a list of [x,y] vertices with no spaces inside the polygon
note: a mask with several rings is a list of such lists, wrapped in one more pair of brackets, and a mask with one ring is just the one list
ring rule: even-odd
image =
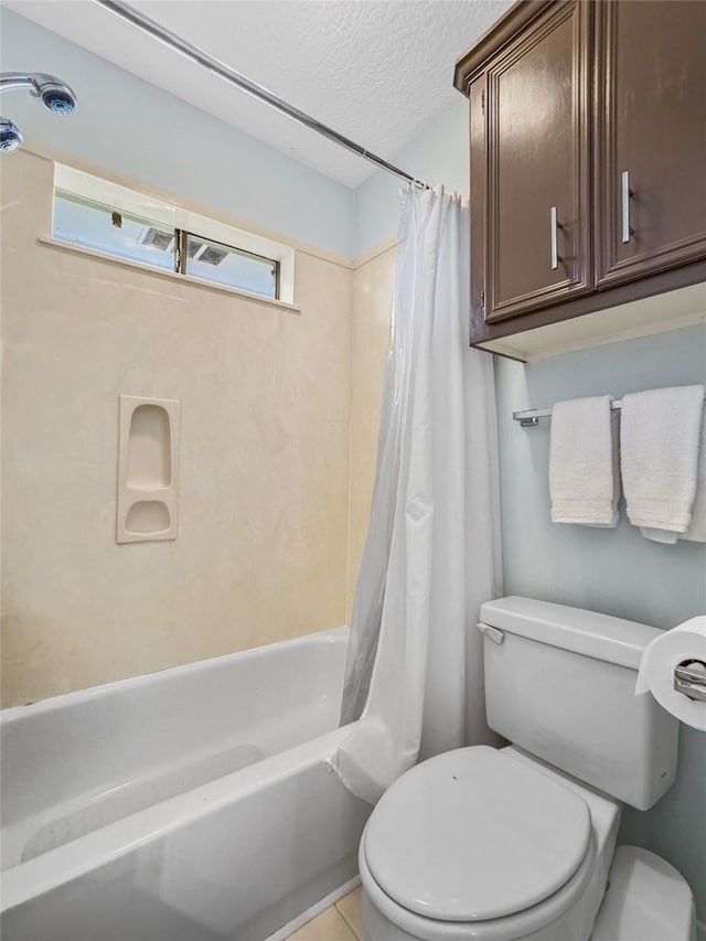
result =
[{"label": "long white shower curtain hanging beside the toilet", "polygon": [[419,756],[488,740],[469,628],[500,594],[492,359],[468,346],[469,211],[441,188],[404,201],[341,713],[360,721],[329,759],[370,803]]}]

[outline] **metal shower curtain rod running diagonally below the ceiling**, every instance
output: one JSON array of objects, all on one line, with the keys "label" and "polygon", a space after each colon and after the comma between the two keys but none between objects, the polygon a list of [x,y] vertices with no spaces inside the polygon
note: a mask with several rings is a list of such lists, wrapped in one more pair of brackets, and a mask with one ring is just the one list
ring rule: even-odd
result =
[{"label": "metal shower curtain rod running diagonally below the ceiling", "polygon": [[224,62],[208,55],[207,52],[199,49],[199,46],[192,45],[190,42],[182,40],[181,36],[178,36],[175,33],[172,33],[170,30],[161,26],[154,20],[151,20],[149,17],[140,13],[128,3],[120,2],[120,0],[95,0],[95,2],[99,7],[115,13],[116,17],[120,17],[131,25],[137,26],[145,33],[148,33],[153,39],[164,43],[164,45],[168,45],[175,52],[180,52],[182,55],[185,55],[186,58],[190,58],[197,65],[207,68],[208,72],[212,72],[220,78],[229,82],[231,85],[235,85],[243,92],[247,92],[247,94],[252,95],[254,98],[257,98],[266,105],[269,105],[271,108],[275,108],[275,110],[280,111],[282,115],[287,115],[288,118],[297,121],[297,124],[303,125],[303,127],[320,133],[322,137],[332,140],[340,147],[344,147],[357,157],[363,157],[365,160],[368,160],[371,163],[379,167],[381,170],[394,173],[395,177],[399,177],[402,180],[406,180],[417,186],[422,186],[426,190],[429,189],[428,184],[425,183],[424,180],[417,180],[415,177],[411,177],[409,173],[400,170],[399,167],[395,167],[394,163],[383,160],[382,157],[377,157],[375,153],[372,153],[370,150],[361,147],[360,143],[355,143],[355,141],[344,137],[342,133],[339,133],[333,130],[333,128],[328,127],[321,121],[318,121],[304,111],[300,111],[299,108],[295,108],[293,105],[289,105],[282,98],[278,98],[277,95],[268,92],[263,85],[252,82],[245,75],[242,75],[239,72],[236,72],[235,68],[231,68],[229,65],[226,65]]}]

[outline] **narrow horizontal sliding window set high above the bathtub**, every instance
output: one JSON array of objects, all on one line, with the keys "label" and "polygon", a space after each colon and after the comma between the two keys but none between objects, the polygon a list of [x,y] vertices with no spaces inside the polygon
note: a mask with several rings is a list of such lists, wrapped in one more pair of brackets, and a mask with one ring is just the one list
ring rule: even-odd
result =
[{"label": "narrow horizontal sliding window set high above the bathtub", "polygon": [[182,206],[56,164],[53,238],[293,302],[293,249]]}]

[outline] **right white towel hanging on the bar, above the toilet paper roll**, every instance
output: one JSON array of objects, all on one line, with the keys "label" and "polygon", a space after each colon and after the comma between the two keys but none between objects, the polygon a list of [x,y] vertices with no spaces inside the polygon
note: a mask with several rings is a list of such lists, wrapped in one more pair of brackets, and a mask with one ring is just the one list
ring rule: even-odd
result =
[{"label": "right white towel hanging on the bar, above the toilet paper roll", "polygon": [[623,396],[622,485],[628,517],[648,539],[674,543],[688,530],[703,409],[703,385]]}]

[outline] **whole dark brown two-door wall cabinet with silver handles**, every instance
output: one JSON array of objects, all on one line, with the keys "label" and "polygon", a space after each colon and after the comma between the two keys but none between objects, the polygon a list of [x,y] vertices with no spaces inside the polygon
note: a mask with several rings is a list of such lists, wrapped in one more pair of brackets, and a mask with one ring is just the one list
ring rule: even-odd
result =
[{"label": "whole dark brown two-door wall cabinet with silver handles", "polygon": [[706,280],[704,35],[706,2],[522,0],[459,61],[473,345]]}]

